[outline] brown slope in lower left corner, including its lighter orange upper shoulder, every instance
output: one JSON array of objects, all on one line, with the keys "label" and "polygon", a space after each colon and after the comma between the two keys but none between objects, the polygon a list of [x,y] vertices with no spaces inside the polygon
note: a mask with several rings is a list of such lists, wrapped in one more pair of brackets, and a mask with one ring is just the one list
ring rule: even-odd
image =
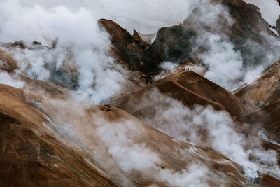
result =
[{"label": "brown slope in lower left corner, including its lighter orange upper shoulder", "polygon": [[0,85],[0,186],[116,186],[84,153],[48,133],[42,113],[24,102],[33,96]]}]

